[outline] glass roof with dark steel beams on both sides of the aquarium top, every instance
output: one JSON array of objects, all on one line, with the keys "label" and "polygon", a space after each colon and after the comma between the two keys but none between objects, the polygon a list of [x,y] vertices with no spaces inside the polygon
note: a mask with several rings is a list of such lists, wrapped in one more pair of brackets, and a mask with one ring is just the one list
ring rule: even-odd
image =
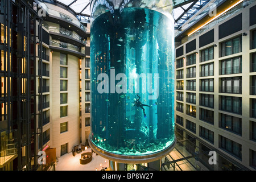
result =
[{"label": "glass roof with dark steel beams on both sides of the aquarium top", "polygon": [[[43,0],[48,3],[59,3],[76,14],[81,22],[90,21],[90,0]],[[111,1],[111,0],[104,0]],[[210,0],[174,0],[175,29],[179,29],[189,18],[199,11]]]}]

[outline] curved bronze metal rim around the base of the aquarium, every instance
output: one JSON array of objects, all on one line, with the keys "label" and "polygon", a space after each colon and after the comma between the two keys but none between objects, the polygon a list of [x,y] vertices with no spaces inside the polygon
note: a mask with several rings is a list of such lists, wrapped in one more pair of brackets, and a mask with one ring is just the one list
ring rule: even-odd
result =
[{"label": "curved bronze metal rim around the base of the aquarium", "polygon": [[89,145],[92,148],[94,152],[96,152],[98,155],[102,156],[105,159],[112,160],[118,163],[126,163],[126,164],[140,164],[140,163],[148,163],[153,162],[155,160],[161,159],[167,154],[169,154],[176,145],[176,137],[174,136],[174,142],[165,148],[164,150],[161,150],[159,152],[155,152],[154,154],[145,154],[145,155],[120,155],[120,154],[114,154],[112,152],[108,152],[105,150],[102,150],[101,148],[97,147],[92,141],[89,136]]}]

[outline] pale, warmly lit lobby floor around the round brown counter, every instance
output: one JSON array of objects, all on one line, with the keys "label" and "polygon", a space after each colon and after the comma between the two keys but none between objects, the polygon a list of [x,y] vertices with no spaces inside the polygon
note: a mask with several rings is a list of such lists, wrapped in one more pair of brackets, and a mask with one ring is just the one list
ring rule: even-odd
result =
[{"label": "pale, warmly lit lobby floor around the round brown counter", "polygon": [[[57,162],[56,171],[96,171],[96,168],[100,171],[102,167],[109,168],[109,160],[102,158],[100,155],[96,155],[96,153],[93,153],[92,161],[90,163],[80,164],[79,159],[81,158],[81,154],[90,151],[91,148],[88,148],[76,156],[73,156],[72,152],[64,154]],[[100,164],[102,164],[102,166],[100,166]]]}]

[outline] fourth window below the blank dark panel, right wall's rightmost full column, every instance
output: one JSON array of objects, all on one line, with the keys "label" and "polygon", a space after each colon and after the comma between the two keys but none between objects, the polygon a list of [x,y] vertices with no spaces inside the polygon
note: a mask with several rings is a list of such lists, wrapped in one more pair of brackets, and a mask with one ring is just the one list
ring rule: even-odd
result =
[{"label": "fourth window below the blank dark panel, right wall's rightmost full column", "polygon": [[221,96],[220,110],[242,114],[242,98]]}]

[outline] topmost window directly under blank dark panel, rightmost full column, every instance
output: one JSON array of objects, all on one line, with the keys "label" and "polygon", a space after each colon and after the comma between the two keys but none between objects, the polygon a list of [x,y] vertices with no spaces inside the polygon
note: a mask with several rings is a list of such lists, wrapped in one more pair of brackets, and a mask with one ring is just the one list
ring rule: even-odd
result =
[{"label": "topmost window directly under blank dark panel, rightmost full column", "polygon": [[221,43],[221,56],[229,56],[238,52],[242,52],[241,36]]}]

